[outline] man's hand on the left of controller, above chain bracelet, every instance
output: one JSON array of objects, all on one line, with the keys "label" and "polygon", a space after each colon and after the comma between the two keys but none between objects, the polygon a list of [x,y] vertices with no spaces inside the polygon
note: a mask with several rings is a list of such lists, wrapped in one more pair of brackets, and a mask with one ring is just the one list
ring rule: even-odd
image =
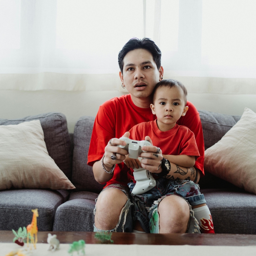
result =
[{"label": "man's hand on the left of controller, above chain bracelet", "polygon": [[[129,136],[130,136],[130,133],[126,132],[122,137],[129,138]],[[116,146],[116,145],[125,146],[126,142],[124,142],[123,140],[113,138],[111,139],[111,144],[108,142],[108,144],[105,147],[105,157],[103,160],[103,164],[107,170],[111,170],[114,164],[122,163],[123,160],[126,158],[126,155],[128,154],[127,150]],[[115,160],[111,158],[112,155],[116,156]]]}]

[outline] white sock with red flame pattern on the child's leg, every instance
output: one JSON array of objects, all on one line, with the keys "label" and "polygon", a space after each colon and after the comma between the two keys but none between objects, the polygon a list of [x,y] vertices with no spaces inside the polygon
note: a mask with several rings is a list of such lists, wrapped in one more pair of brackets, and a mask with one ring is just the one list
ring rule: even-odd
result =
[{"label": "white sock with red flame pattern on the child's leg", "polygon": [[207,205],[194,208],[194,216],[197,219],[202,233],[215,233],[211,212]]}]

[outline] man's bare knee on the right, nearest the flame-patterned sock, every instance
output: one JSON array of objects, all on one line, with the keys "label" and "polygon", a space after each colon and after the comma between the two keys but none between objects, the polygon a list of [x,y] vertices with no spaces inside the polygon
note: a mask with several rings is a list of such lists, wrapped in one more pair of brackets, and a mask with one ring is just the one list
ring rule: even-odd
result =
[{"label": "man's bare knee on the right, nearest the flame-patterned sock", "polygon": [[186,233],[190,209],[181,197],[170,195],[158,206],[160,233]]}]

